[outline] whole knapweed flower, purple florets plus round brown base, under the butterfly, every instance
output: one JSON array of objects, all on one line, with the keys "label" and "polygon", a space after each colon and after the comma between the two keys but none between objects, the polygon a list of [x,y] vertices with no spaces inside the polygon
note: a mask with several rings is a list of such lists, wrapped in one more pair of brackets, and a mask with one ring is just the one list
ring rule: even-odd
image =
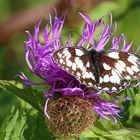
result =
[{"label": "whole knapweed flower, purple florets plus round brown base, under the butterfly", "polygon": [[[96,51],[101,51],[111,39],[116,30],[112,31],[112,17],[109,25],[105,25],[102,18],[91,22],[90,17],[80,13],[85,20],[83,33],[79,42],[76,44],[72,41],[72,37],[68,37],[65,45],[63,40],[62,28],[65,20],[65,14],[60,18],[55,13],[54,19],[50,16],[46,27],[40,32],[40,25],[35,28],[34,36],[29,32],[28,41],[25,42],[26,61],[30,70],[40,77],[43,82],[35,83],[30,81],[24,74],[21,78],[24,85],[49,85],[49,89],[45,91],[46,104],[44,113],[48,118],[49,127],[59,136],[76,136],[81,134],[95,122],[97,116],[105,120],[113,120],[117,122],[116,117],[121,111],[117,102],[108,102],[101,99],[102,90],[90,90],[88,86],[81,83],[74,75],[63,70],[53,59],[56,51],[62,48],[94,46]],[[101,26],[98,40],[95,40],[95,31]],[[42,33],[42,39],[40,39]],[[112,39],[112,47],[110,50],[118,50],[120,40],[124,41],[122,52],[127,52],[132,43],[128,44],[124,35],[119,35]],[[133,58],[135,59],[135,58]],[[131,58],[130,58],[131,61]],[[106,69],[110,67],[106,66]],[[134,68],[135,71],[137,68]],[[104,89],[105,91],[105,89]],[[115,96],[114,94],[109,94]],[[92,111],[91,111],[92,110]]]}]

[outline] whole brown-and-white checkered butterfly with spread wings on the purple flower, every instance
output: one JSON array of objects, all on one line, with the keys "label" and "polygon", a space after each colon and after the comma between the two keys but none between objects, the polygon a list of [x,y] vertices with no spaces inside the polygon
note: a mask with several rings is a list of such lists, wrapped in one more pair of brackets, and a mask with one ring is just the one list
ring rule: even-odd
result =
[{"label": "whole brown-and-white checkered butterfly with spread wings on the purple flower", "polygon": [[131,81],[140,82],[140,56],[129,52],[65,47],[56,51],[53,59],[81,83],[96,90],[119,92]]}]

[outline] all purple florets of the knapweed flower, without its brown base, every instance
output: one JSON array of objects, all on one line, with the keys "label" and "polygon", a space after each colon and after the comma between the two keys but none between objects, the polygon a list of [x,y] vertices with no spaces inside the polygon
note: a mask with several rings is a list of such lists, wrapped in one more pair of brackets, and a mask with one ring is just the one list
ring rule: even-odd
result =
[{"label": "all purple florets of the knapweed flower, without its brown base", "polygon": [[[92,23],[88,15],[83,15],[81,13],[80,15],[85,20],[85,25],[77,46],[84,46],[84,44],[88,42],[87,48],[93,43],[93,46],[97,51],[102,50],[116,30],[116,26],[114,31],[111,30],[112,16],[110,15],[110,24],[105,25],[102,21],[103,18]],[[32,82],[22,74],[21,78],[24,80],[24,85],[48,84],[50,86],[50,89],[47,89],[45,92],[47,101],[44,107],[44,113],[48,118],[47,107],[49,99],[56,94],[61,94],[62,96],[83,96],[93,100],[93,110],[100,117],[106,120],[112,118],[116,123],[116,116],[119,116],[118,113],[121,111],[116,103],[100,99],[101,92],[89,91],[88,88],[81,84],[74,76],[68,74],[54,63],[52,58],[54,52],[64,47],[61,44],[61,39],[63,39],[61,33],[64,20],[65,14],[60,18],[55,15],[54,19],[50,16],[50,20],[42,32],[40,32],[41,22],[35,28],[34,36],[27,32],[28,41],[25,42],[26,62],[30,70],[40,77],[43,82]],[[101,26],[102,29],[98,35],[99,38],[97,41],[95,40],[95,32],[99,26]],[[43,36],[43,41],[40,40],[40,34]],[[128,44],[126,38],[122,34],[117,38],[112,39],[112,47],[110,49],[118,50],[119,42],[122,39],[124,41],[122,51],[127,52],[132,43]],[[70,36],[65,44],[65,47],[74,45]]]}]

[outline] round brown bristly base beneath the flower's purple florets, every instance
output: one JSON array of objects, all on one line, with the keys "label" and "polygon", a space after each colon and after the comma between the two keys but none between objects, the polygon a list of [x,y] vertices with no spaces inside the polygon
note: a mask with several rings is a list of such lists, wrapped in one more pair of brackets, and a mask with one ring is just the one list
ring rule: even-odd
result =
[{"label": "round brown bristly base beneath the flower's purple florets", "polygon": [[78,136],[90,128],[96,115],[88,99],[82,96],[65,96],[50,103],[49,128],[56,136]]}]

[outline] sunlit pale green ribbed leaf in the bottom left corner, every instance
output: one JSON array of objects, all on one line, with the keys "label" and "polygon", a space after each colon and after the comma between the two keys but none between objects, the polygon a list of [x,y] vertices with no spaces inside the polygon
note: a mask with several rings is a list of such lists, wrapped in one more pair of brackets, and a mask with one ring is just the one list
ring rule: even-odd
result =
[{"label": "sunlit pale green ribbed leaf in the bottom left corner", "polygon": [[12,108],[11,114],[5,119],[0,140],[24,140],[23,132],[27,128],[25,112],[21,108]]}]

